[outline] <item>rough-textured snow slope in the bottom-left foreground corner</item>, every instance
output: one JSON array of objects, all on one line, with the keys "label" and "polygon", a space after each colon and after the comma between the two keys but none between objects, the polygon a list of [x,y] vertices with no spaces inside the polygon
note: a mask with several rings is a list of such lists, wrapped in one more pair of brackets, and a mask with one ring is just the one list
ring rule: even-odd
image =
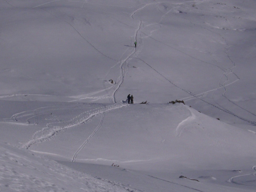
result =
[{"label": "rough-textured snow slope in the bottom-left foreground corner", "polygon": [[126,191],[80,171],[0,143],[1,192]]}]

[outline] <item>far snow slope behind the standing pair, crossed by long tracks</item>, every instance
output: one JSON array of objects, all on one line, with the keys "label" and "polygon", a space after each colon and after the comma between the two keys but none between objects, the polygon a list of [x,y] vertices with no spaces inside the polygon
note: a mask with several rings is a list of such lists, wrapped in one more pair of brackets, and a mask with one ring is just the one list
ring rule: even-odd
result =
[{"label": "far snow slope behind the standing pair, crossed by long tracks", "polygon": [[119,103],[133,93],[255,125],[254,0],[1,6],[2,98]]}]

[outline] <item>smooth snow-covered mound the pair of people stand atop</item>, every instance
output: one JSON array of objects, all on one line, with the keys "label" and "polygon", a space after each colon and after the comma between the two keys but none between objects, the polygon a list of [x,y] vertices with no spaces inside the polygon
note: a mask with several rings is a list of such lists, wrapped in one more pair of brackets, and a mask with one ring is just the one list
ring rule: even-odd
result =
[{"label": "smooth snow-covered mound the pair of people stand atop", "polygon": [[[89,173],[103,183],[152,192],[159,185],[161,191],[170,191],[169,187],[174,187],[172,191],[219,191],[216,185],[226,191],[250,191],[255,187],[251,181],[255,177],[255,134],[187,105],[18,102],[27,104],[24,107],[4,102],[10,107],[5,108],[7,114],[21,108],[26,111],[1,120],[1,141]],[[9,164],[10,158],[3,157],[1,166]],[[50,171],[60,167],[51,166]],[[1,185],[17,187],[9,169],[2,173],[10,179],[2,180]],[[201,184],[179,178],[181,175]],[[20,179],[20,185],[31,185],[29,178]]]}]

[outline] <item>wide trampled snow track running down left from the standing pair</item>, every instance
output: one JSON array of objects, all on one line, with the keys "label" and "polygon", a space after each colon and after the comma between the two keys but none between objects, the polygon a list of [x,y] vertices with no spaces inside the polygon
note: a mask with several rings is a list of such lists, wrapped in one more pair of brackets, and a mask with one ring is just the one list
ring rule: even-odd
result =
[{"label": "wide trampled snow track running down left from the standing pair", "polygon": [[[100,109],[96,108],[96,109],[98,109],[96,111],[92,109],[93,110],[92,113],[88,113],[89,111],[83,112],[80,115],[78,115],[78,116],[74,117],[73,119],[69,120],[68,122],[71,122],[71,123],[69,123],[67,125],[53,126],[53,127],[47,126],[47,127],[43,128],[43,130],[38,131],[36,134],[42,133],[43,131],[45,133],[42,133],[40,136],[36,136],[34,134],[33,139],[24,143],[22,145],[22,147],[26,148],[26,149],[29,149],[29,148],[31,148],[32,145],[34,145],[36,143],[42,143],[44,141],[49,141],[54,136],[56,136],[57,133],[62,132],[66,129],[81,125],[81,124],[87,122],[88,120],[92,119],[93,117],[95,117],[98,114],[106,113],[108,111],[112,111],[114,109],[119,109],[119,108],[125,107],[125,106],[128,106],[128,105],[127,104],[114,104],[114,105],[111,105],[111,106],[108,106],[108,107],[106,107],[106,106],[104,106],[103,108],[100,107]],[[92,111],[92,110],[90,110],[90,111]],[[84,113],[88,113],[88,114],[84,115]],[[76,120],[76,119],[78,119],[78,120]],[[61,122],[61,123],[66,123],[66,122]]]}]

